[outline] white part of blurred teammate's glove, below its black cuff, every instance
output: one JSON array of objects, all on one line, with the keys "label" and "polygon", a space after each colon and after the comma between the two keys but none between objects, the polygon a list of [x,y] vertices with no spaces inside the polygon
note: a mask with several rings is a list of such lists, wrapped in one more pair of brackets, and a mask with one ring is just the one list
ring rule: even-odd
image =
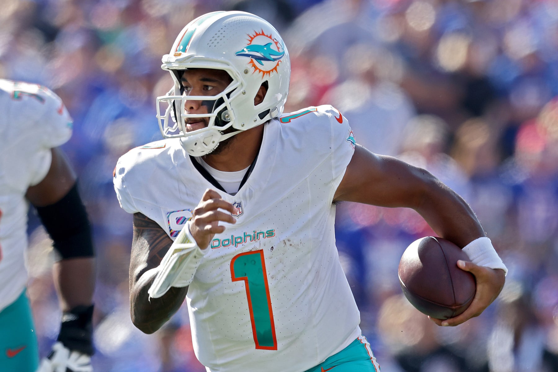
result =
[{"label": "white part of blurred teammate's glove, below its black cuff", "polygon": [[69,350],[62,342],[56,342],[49,356],[41,361],[37,372],[93,372],[93,366],[89,355]]}]

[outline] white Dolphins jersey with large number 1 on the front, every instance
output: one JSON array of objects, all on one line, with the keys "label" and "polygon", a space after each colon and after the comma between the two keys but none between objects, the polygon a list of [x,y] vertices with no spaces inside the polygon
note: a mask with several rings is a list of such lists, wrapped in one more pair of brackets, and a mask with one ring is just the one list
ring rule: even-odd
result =
[{"label": "white Dolphins jersey with large number 1 on the front", "polygon": [[[360,315],[335,247],[333,196],[354,137],[329,105],[264,124],[258,160],[234,196],[234,225],[215,235],[186,301],[209,371],[297,372],[360,335]],[[195,161],[195,160],[194,160]],[[206,189],[178,139],[132,149],[114,185],[129,213],[175,238]]]}]

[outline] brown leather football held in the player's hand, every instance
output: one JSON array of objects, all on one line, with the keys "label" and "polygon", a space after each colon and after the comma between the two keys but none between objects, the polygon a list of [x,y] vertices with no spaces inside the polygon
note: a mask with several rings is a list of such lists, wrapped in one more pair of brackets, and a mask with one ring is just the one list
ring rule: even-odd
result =
[{"label": "brown leather football held in the player's hand", "polygon": [[426,236],[411,243],[399,263],[403,294],[419,311],[437,319],[464,312],[473,301],[477,284],[461,270],[458,260],[469,257],[451,241]]}]

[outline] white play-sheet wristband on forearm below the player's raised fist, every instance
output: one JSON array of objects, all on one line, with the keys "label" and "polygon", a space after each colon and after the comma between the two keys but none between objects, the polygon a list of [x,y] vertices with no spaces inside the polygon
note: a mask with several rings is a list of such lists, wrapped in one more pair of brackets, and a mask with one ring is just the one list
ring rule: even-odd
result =
[{"label": "white play-sheet wristband on forearm below the player's raised fist", "polygon": [[190,233],[190,221],[188,221],[157,267],[157,276],[148,290],[150,297],[161,297],[169,291],[170,287],[189,286],[206,252],[208,250],[202,251],[198,247]]}]

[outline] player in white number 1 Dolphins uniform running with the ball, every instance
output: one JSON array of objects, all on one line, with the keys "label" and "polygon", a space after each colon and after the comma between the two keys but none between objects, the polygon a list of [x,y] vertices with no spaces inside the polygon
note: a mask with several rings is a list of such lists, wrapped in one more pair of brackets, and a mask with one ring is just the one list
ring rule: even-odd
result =
[{"label": "player in white number 1 Dolphins uniform running with the ball", "polygon": [[378,371],[335,247],[344,200],[412,207],[466,246],[474,263],[460,267],[477,294],[444,325],[498,296],[505,266],[455,192],[355,144],[329,105],[282,113],[290,61],[268,22],[242,12],[196,18],[162,67],[175,83],[157,99],[167,139],[128,152],[114,173],[134,214],[130,301],[140,330],[155,332],[186,298],[209,371]]}]

